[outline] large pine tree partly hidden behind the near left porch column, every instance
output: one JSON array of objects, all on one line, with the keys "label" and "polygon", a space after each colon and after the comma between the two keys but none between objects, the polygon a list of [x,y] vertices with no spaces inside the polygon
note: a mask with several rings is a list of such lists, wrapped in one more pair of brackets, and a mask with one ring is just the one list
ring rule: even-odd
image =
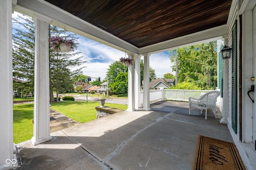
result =
[{"label": "large pine tree partly hidden behind the near left porch column", "polygon": [[[25,80],[22,92],[34,92],[34,51],[35,23],[27,17],[13,18],[13,23],[22,29],[13,28],[13,76]],[[52,36],[77,39],[75,34],[49,25],[49,40]],[[81,67],[71,71],[71,67],[79,67],[83,56],[80,52],[65,53],[54,51],[49,43],[50,102],[54,102],[53,91],[69,90],[73,87],[72,77],[81,74]],[[57,100],[58,101],[58,100]]]}]

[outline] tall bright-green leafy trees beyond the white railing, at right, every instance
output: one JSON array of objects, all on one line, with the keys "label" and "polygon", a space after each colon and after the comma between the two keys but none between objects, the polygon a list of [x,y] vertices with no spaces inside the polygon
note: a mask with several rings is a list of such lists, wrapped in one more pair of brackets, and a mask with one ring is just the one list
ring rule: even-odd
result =
[{"label": "tall bright-green leafy trees beyond the white railing, at right", "polygon": [[[178,83],[188,80],[195,82],[203,89],[215,89],[217,86],[217,42],[192,45],[170,51],[170,54],[177,53]],[[175,62],[175,56],[170,57]],[[176,65],[173,65],[173,71]]]}]

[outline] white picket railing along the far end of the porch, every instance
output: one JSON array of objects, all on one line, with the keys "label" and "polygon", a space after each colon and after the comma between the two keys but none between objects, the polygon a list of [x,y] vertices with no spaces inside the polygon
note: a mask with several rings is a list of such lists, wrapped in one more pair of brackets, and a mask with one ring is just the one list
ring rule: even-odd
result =
[{"label": "white picket railing along the far end of the porch", "polygon": [[[176,89],[160,89],[149,91],[149,101],[155,100],[176,100],[188,102],[189,97],[200,98],[204,93],[212,90],[176,90]],[[143,104],[143,91],[140,92],[140,103]]]}]

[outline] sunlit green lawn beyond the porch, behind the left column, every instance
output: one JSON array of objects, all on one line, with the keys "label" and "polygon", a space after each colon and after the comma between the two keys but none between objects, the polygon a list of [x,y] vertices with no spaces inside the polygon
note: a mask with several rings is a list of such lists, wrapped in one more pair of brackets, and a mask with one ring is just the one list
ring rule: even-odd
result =
[{"label": "sunlit green lawn beyond the porch, behind the left column", "polygon": [[[51,103],[51,109],[56,110],[71,119],[84,123],[96,119],[95,107],[100,106],[100,102],[78,102],[60,101]],[[118,109],[127,109],[127,105],[109,104],[105,106]],[[30,140],[33,137],[34,104],[20,104],[13,106],[13,135],[14,143]]]}]

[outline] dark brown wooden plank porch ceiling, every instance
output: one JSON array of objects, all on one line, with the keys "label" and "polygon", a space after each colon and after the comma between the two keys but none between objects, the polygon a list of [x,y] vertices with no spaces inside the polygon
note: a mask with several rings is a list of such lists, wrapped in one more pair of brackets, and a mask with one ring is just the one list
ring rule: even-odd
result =
[{"label": "dark brown wooden plank porch ceiling", "polygon": [[46,0],[138,47],[227,23],[232,0]]}]

